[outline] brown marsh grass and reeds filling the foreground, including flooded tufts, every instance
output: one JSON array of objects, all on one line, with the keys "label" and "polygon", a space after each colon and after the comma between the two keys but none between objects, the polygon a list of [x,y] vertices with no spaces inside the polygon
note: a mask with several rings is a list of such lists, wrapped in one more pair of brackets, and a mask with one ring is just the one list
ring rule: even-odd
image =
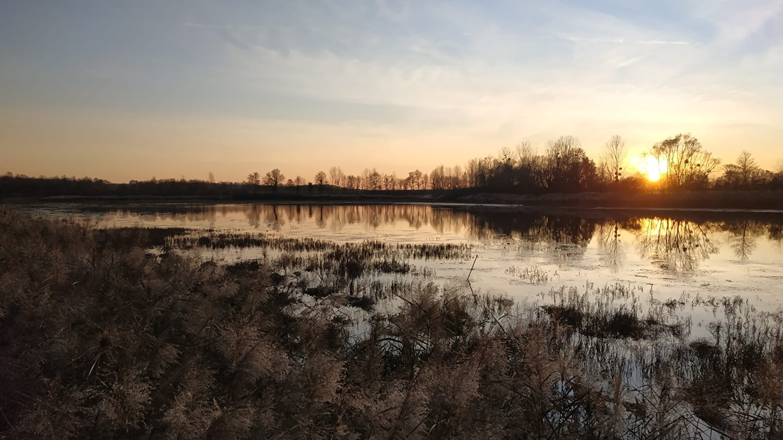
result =
[{"label": "brown marsh grass and reeds filling the foreground, including flooded tufts", "polygon": [[[4,207],[0,228],[8,438],[783,434],[781,312],[741,298],[643,307],[633,288],[586,285],[514,304],[394,271],[308,271],[297,251],[150,252],[141,235]],[[708,337],[689,336],[686,307],[713,308]]]}]

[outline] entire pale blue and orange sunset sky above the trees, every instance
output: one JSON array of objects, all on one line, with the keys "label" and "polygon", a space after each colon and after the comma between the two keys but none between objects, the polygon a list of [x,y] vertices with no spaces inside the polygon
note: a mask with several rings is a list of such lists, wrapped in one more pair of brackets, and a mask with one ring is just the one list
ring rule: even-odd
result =
[{"label": "entire pale blue and orange sunset sky above the trees", "polygon": [[0,171],[399,176],[680,132],[783,159],[783,1],[0,2]]}]

